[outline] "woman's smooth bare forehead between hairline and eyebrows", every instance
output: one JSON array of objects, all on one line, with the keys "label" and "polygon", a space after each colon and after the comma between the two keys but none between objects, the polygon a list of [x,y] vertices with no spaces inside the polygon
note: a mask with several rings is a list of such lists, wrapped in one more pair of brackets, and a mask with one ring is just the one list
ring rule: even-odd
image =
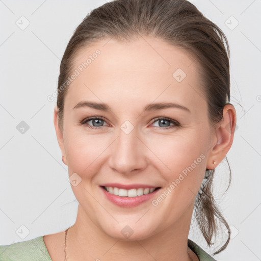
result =
[{"label": "woman's smooth bare forehead between hairline and eyebrows", "polygon": [[142,36],[131,42],[105,39],[82,48],[74,57],[65,103],[84,99],[125,106],[160,101],[204,102],[200,66],[185,49]]}]

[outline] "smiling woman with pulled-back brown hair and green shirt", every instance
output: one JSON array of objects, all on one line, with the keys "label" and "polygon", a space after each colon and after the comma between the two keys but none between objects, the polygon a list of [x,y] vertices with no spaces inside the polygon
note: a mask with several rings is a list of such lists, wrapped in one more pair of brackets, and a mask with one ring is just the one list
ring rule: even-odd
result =
[{"label": "smiling woman with pulled-back brown hair and green shirt", "polygon": [[188,234],[193,210],[208,245],[217,220],[230,232],[211,193],[236,126],[228,55],[187,1],[93,10],[65,50],[54,110],[76,221],[0,247],[1,260],[215,260]]}]

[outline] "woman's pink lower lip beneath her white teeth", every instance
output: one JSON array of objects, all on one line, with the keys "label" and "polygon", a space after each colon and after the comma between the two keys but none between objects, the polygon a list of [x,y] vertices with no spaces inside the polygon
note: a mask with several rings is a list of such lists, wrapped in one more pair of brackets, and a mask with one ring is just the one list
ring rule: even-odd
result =
[{"label": "woman's pink lower lip beneath her white teeth", "polygon": [[148,193],[148,194],[145,194],[142,196],[137,196],[137,197],[121,197],[121,196],[117,196],[117,195],[109,193],[107,190],[103,189],[102,187],[100,187],[100,188],[103,191],[103,193],[105,194],[105,196],[107,197],[107,199],[109,199],[114,204],[116,204],[118,206],[122,206],[122,207],[138,206],[141,203],[153,198],[155,196],[155,194],[158,193],[158,191],[160,190],[160,189],[156,189],[151,193]]}]

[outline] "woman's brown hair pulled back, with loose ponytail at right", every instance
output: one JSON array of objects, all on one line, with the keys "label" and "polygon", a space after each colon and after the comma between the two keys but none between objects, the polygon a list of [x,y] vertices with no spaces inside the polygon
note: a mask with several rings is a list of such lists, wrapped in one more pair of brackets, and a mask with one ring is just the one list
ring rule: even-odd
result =
[{"label": "woman's brown hair pulled back, with loose ponytail at right", "polygon": [[[116,0],[90,12],[75,29],[63,55],[58,80],[58,121],[63,129],[64,97],[67,88],[61,86],[73,70],[77,51],[101,39],[114,37],[132,41],[140,35],[160,38],[181,47],[195,57],[200,65],[202,93],[208,104],[212,126],[223,117],[223,108],[230,100],[229,47],[224,33],[198,9],[185,0]],[[60,86],[60,87],[59,87]],[[215,170],[208,171],[195,201],[195,218],[208,244],[217,234],[220,224],[228,238],[216,251],[224,250],[230,240],[229,226],[219,211],[212,192]],[[231,171],[229,168],[229,184]]]}]

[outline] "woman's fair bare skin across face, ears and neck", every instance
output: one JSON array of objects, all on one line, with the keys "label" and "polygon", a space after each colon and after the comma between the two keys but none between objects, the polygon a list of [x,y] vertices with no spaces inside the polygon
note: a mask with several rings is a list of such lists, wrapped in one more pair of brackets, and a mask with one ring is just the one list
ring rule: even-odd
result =
[{"label": "woman's fair bare skin across face, ears and neck", "polygon": [[[68,260],[197,260],[187,251],[195,197],[205,169],[215,168],[231,147],[236,111],[226,105],[223,119],[211,127],[200,66],[184,49],[150,36],[128,43],[108,40],[95,42],[75,57],[77,68],[96,49],[101,51],[68,87],[63,131],[57,107],[54,110],[63,162],[69,176],[76,172],[82,179],[71,186],[79,208],[67,234]],[[187,74],[180,83],[172,76],[177,68]],[[107,103],[111,110],[73,109],[80,101]],[[190,112],[179,108],[143,111],[158,102],[174,102]],[[92,120],[80,124],[92,116],[106,121],[96,129],[87,127],[95,124]],[[168,117],[180,125],[167,121],[172,128],[166,129],[156,117]],[[134,126],[129,134],[120,128],[126,120]],[[107,182],[147,184],[161,187],[156,199],[201,154],[204,159],[157,206],[148,200],[136,207],[121,207],[101,191],[100,185]],[[134,231],[127,239],[121,233],[125,226]],[[46,235],[44,242],[54,261],[64,258],[64,231]]]}]

